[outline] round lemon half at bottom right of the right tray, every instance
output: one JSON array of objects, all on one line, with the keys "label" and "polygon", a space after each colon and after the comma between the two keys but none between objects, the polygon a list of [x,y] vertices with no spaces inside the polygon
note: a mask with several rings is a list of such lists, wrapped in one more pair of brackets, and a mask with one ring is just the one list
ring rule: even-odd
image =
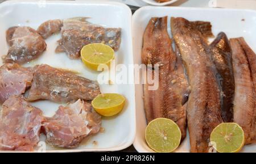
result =
[{"label": "round lemon half at bottom right of the right tray", "polygon": [[245,134],[236,123],[221,123],[210,133],[210,142],[217,152],[239,152],[245,144]]}]

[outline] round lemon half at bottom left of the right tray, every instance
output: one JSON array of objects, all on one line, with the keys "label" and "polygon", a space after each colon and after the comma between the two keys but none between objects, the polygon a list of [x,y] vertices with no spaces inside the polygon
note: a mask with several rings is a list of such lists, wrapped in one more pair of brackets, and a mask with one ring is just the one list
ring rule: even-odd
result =
[{"label": "round lemon half at bottom left of the right tray", "polygon": [[145,137],[148,146],[155,152],[169,153],[180,145],[181,132],[174,121],[158,118],[147,125]]}]

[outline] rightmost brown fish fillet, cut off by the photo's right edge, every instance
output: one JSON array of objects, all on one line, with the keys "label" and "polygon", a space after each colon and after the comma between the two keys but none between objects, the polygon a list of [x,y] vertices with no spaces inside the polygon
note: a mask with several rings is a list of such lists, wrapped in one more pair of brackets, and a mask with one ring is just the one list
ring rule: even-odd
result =
[{"label": "rightmost brown fish fillet, cut off by the photo's right edge", "polygon": [[245,144],[255,142],[256,56],[242,37],[230,39],[235,78],[234,122],[245,133]]}]

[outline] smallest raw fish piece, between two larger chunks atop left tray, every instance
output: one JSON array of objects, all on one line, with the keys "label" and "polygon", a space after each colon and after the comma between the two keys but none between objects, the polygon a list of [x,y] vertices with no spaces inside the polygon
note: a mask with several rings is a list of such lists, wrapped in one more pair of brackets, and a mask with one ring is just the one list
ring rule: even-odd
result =
[{"label": "smallest raw fish piece, between two larger chunks atop left tray", "polygon": [[60,32],[62,26],[63,21],[60,19],[47,20],[42,23],[36,31],[43,37],[43,39],[47,39],[54,33]]}]

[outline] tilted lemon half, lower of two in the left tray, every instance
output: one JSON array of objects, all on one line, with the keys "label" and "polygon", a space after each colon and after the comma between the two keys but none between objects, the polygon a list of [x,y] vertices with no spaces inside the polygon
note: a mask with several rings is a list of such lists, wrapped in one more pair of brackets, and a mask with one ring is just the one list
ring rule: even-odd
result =
[{"label": "tilted lemon half, lower of two in the left tray", "polygon": [[113,116],[122,111],[125,97],[119,94],[101,94],[92,100],[92,106],[102,116]]}]

